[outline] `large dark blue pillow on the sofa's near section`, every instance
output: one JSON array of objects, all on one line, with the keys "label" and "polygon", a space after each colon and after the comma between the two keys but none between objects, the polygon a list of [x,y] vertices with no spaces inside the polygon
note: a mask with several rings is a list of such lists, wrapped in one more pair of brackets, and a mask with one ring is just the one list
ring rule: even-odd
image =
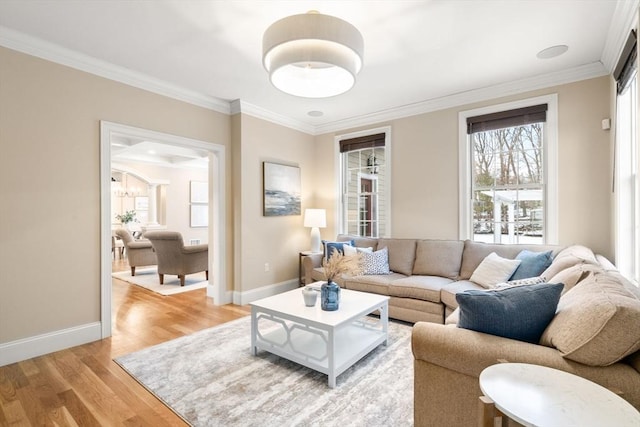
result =
[{"label": "large dark blue pillow on the sofa's near section", "polygon": [[456,294],[459,328],[538,343],[556,314],[562,283]]}]

